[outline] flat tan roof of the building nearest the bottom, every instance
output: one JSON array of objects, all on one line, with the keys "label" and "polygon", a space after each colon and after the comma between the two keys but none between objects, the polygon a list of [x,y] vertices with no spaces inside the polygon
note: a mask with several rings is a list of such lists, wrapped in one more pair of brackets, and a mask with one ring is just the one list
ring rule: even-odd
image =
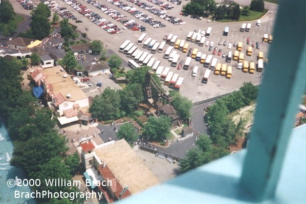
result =
[{"label": "flat tan roof of the building nearest the bottom", "polygon": [[120,185],[129,186],[130,193],[136,194],[159,184],[157,177],[144,165],[125,140],[95,149],[95,152],[101,161],[106,162]]}]

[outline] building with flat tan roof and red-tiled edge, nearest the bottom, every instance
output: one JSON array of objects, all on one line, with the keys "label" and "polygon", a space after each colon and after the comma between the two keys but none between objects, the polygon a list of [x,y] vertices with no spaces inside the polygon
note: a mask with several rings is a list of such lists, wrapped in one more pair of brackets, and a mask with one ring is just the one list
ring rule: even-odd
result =
[{"label": "building with flat tan roof and red-tiled edge, nearest the bottom", "polygon": [[125,140],[111,141],[96,147],[92,142],[85,141],[80,147],[86,179],[95,181],[100,175],[100,179],[112,181],[112,186],[92,186],[103,193],[108,203],[159,184],[156,176]]}]

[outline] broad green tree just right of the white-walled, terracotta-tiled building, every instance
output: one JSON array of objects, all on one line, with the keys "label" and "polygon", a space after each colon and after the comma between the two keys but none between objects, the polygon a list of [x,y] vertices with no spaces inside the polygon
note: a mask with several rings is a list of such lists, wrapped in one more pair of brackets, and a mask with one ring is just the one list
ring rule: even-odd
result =
[{"label": "broad green tree just right of the white-walled, terracotta-tiled building", "polygon": [[107,87],[100,96],[93,98],[90,111],[99,120],[111,120],[124,116],[124,113],[120,112],[119,108],[120,98],[118,92]]}]

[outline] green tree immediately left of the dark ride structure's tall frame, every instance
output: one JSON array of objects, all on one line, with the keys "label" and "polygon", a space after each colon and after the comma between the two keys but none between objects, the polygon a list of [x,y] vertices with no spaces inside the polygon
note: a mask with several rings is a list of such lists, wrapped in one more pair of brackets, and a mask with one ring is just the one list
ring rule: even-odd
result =
[{"label": "green tree immediately left of the dark ride structure's tall frame", "polygon": [[127,114],[130,114],[143,101],[143,94],[139,90],[141,90],[139,83],[128,84],[123,90],[120,90],[121,107]]}]

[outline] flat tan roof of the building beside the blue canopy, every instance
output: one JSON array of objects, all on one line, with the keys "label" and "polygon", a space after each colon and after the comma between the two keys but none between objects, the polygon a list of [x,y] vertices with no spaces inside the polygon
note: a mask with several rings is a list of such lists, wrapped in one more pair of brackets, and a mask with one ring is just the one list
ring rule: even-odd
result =
[{"label": "flat tan roof of the building beside the blue canopy", "polygon": [[[52,84],[50,89],[54,95],[61,94],[65,101],[73,101],[88,98],[84,92],[75,84],[70,78],[63,78],[63,75],[67,75],[66,72],[60,71],[60,66],[53,66],[43,70],[47,76],[48,84]],[[49,86],[50,88],[51,86]],[[66,98],[67,94],[71,95],[71,98]]]}]

